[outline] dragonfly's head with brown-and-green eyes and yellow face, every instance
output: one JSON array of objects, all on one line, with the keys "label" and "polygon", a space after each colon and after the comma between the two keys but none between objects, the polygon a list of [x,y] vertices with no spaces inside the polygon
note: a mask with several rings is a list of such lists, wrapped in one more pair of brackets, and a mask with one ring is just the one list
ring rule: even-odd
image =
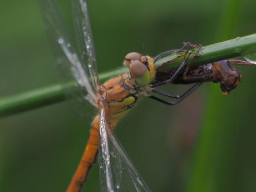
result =
[{"label": "dragonfly's head with brown-and-green eyes and yellow face", "polygon": [[145,87],[155,78],[154,59],[131,52],[125,56],[124,65],[130,69],[130,77],[137,87]]}]

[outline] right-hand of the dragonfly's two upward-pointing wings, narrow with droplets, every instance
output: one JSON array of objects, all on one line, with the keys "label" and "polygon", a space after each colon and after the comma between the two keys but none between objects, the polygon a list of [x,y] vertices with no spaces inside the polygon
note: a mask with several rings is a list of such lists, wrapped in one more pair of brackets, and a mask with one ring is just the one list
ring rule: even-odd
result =
[{"label": "right-hand of the dragonfly's two upward-pointing wings, narrow with droplets", "polygon": [[99,78],[87,4],[85,0],[73,0],[72,2],[80,56],[86,72],[90,74],[92,85],[96,87],[99,85]]}]

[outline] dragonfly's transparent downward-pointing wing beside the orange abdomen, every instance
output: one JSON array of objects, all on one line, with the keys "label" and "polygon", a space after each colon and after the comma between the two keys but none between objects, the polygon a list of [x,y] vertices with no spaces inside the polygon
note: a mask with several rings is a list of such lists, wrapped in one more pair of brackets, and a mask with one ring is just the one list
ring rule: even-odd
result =
[{"label": "dragonfly's transparent downward-pointing wing beside the orange abdomen", "polygon": [[151,191],[132,164],[100,111],[99,165],[101,191]]}]

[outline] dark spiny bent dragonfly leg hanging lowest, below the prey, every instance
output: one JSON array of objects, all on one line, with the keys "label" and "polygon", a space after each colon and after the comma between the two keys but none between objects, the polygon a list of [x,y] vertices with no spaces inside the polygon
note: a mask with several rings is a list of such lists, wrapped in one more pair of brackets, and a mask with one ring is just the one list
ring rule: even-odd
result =
[{"label": "dark spiny bent dragonfly leg hanging lowest, below the prey", "polygon": [[192,87],[190,87],[187,91],[185,91],[181,95],[173,95],[173,94],[169,94],[169,93],[166,93],[166,92],[163,92],[163,91],[160,91],[160,90],[156,90],[156,89],[152,90],[152,92],[155,92],[155,93],[157,93],[159,95],[163,95],[163,96],[166,96],[166,97],[169,97],[169,98],[178,99],[177,101],[166,101],[166,100],[161,99],[159,97],[156,97],[154,95],[150,95],[149,98],[154,99],[156,101],[163,102],[164,104],[167,104],[167,105],[176,105],[180,101],[185,99],[185,97],[188,96],[191,92],[193,92],[196,88],[198,88],[201,85],[201,83],[202,83],[201,81],[196,82]]}]

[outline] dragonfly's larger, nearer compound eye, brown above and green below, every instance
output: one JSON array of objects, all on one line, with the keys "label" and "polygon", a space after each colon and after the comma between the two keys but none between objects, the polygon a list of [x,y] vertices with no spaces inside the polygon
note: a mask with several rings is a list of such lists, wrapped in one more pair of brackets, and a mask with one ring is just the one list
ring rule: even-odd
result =
[{"label": "dragonfly's larger, nearer compound eye, brown above and green below", "polygon": [[141,61],[135,60],[131,62],[130,73],[138,87],[145,87],[149,85],[150,73],[145,64]]}]

